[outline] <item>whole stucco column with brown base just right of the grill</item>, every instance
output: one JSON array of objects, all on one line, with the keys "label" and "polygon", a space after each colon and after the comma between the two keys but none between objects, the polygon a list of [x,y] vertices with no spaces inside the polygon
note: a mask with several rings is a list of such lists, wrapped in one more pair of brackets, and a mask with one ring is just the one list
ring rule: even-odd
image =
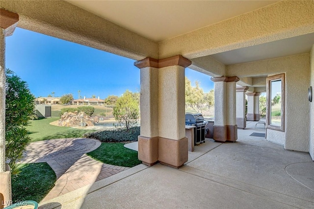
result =
[{"label": "whole stucco column with brown base just right of the grill", "polygon": [[215,91],[213,139],[219,142],[234,142],[237,139],[235,83],[239,78],[234,76],[210,79],[214,82]]}]

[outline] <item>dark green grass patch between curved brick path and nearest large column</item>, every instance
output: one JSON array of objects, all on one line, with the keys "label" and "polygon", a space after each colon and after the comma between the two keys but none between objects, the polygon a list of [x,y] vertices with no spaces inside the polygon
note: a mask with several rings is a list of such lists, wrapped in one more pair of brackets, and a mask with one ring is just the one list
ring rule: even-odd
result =
[{"label": "dark green grass patch between curved brick path and nearest large column", "polygon": [[102,143],[99,148],[87,153],[87,155],[111,165],[133,167],[141,164],[137,158],[137,152],[125,148],[123,145],[124,143]]}]

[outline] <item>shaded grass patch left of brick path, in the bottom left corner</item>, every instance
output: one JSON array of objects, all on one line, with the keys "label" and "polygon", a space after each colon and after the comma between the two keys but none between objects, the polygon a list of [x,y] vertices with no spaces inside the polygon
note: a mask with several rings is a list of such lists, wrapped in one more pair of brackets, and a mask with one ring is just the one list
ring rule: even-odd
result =
[{"label": "shaded grass patch left of brick path, in the bottom left corner", "polygon": [[12,201],[34,200],[39,203],[54,186],[56,176],[46,163],[21,164],[21,173],[12,179]]}]

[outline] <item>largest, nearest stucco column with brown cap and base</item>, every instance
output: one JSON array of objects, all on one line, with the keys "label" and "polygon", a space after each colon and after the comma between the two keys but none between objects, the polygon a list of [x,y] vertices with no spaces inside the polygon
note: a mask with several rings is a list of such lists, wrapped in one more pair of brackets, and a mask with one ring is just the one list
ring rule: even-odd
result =
[{"label": "largest, nearest stucco column with brown cap and base", "polygon": [[134,63],[141,70],[138,158],[146,165],[160,162],[178,168],[187,161],[184,69],[190,64],[181,55]]}]

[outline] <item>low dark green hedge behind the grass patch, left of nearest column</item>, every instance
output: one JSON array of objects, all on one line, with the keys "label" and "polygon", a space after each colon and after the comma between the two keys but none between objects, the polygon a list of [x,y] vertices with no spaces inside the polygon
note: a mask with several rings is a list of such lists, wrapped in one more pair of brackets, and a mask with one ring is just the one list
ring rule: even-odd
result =
[{"label": "low dark green hedge behind the grass patch, left of nearest column", "polygon": [[125,129],[96,131],[84,134],[85,138],[97,139],[101,142],[122,142],[122,141],[137,141],[140,135],[140,127],[132,127],[129,131]]}]

